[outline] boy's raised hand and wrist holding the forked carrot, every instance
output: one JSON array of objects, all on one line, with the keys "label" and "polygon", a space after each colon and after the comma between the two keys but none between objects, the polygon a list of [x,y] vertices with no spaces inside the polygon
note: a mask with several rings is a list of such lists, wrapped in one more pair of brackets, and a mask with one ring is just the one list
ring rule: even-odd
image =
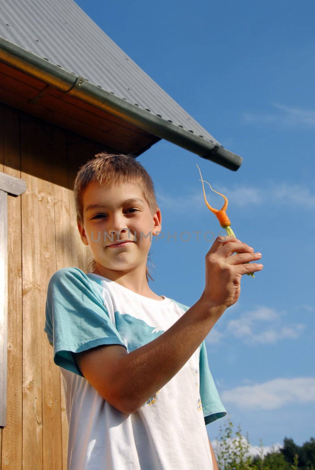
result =
[{"label": "boy's raised hand and wrist holding the forked carrot", "polygon": [[[253,248],[241,243],[234,236],[217,237],[206,254],[206,285],[202,300],[211,306],[230,307],[238,301],[240,282],[243,274],[261,271],[258,261],[261,256]],[[234,254],[233,253],[239,253]]]}]

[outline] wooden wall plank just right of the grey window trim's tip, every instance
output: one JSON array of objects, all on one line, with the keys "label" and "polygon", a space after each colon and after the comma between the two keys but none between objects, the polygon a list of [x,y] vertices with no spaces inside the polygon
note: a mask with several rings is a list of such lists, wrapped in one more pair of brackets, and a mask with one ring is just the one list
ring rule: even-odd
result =
[{"label": "wooden wall plank just right of the grey window trim's tip", "polygon": [[43,312],[40,303],[38,180],[34,118],[21,114],[23,285],[23,459],[22,469],[43,470],[42,356]]}]

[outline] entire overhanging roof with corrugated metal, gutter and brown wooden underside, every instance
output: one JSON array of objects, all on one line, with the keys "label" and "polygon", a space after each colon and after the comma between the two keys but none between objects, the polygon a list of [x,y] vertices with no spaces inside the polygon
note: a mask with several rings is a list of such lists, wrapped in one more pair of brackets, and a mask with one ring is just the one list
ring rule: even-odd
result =
[{"label": "entire overhanging roof with corrugated metal, gutter and brown wooden underside", "polygon": [[166,139],[233,171],[242,163],[73,0],[0,2],[0,79],[0,101],[113,149],[137,156]]}]

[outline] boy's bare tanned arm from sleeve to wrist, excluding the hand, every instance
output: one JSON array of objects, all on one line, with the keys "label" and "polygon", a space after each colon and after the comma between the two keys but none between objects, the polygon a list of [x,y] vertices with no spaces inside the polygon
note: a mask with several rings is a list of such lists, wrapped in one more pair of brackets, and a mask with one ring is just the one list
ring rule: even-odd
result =
[{"label": "boy's bare tanned arm from sleeve to wrist, excluding the hand", "polygon": [[159,337],[131,352],[121,345],[101,345],[73,357],[108,403],[131,414],[177,374],[225,309],[200,298]]}]

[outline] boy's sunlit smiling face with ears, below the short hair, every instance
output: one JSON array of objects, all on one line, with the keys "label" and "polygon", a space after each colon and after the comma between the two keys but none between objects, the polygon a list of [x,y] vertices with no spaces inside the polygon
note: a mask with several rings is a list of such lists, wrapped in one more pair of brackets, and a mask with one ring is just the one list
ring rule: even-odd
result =
[{"label": "boy's sunlit smiling face with ears, below the short hair", "polygon": [[[131,198],[142,202],[126,202]],[[104,207],[89,208],[92,204]],[[83,226],[77,223],[81,240],[97,263],[114,271],[130,272],[141,265],[145,269],[152,236],[161,231],[161,211],[151,214],[140,188],[90,183],[83,193],[83,217]],[[120,240],[129,243],[109,246]]]}]

